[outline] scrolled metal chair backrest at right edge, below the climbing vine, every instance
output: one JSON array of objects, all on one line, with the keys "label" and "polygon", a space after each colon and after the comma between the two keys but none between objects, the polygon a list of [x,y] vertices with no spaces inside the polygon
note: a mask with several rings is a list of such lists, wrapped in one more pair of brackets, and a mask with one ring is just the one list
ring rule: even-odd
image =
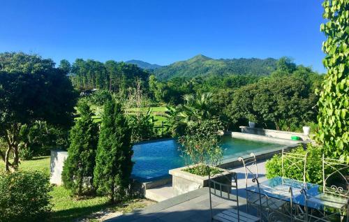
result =
[{"label": "scrolled metal chair backrest at right edge, below the climbing vine", "polygon": [[322,154],[323,193],[349,198],[349,165]]}]

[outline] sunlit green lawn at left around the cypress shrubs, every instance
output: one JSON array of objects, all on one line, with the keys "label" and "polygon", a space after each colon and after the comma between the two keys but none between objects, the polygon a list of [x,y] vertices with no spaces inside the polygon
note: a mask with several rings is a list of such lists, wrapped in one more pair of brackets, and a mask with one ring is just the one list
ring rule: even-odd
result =
[{"label": "sunlit green lawn at left around the cypress shrubs", "polygon": [[[0,169],[5,168],[4,163],[0,162]],[[31,161],[22,161],[20,170],[40,170],[50,173],[50,157],[44,156],[35,158]],[[106,197],[84,198],[77,200],[72,197],[63,186],[54,186],[52,195],[52,213],[50,221],[76,221],[79,218],[85,218],[94,212],[101,210],[107,212],[131,212],[134,208],[145,207],[138,201],[130,200],[120,205],[110,205]],[[96,220],[91,220],[96,221]]]}]

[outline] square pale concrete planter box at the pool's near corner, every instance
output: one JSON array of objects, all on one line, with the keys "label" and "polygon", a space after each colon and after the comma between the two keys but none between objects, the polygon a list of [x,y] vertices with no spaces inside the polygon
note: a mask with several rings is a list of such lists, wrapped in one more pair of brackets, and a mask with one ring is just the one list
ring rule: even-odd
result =
[{"label": "square pale concrete planter box at the pool's near corner", "polygon": [[[195,191],[199,188],[209,186],[209,176],[201,177],[198,175],[193,175],[190,172],[183,171],[188,168],[176,168],[169,170],[169,174],[172,175],[172,188],[174,189],[175,195],[180,195],[183,193],[188,193],[189,191]],[[222,170],[218,175],[214,175],[211,179],[221,182],[223,184],[231,184],[233,172],[229,172],[225,169]]]}]

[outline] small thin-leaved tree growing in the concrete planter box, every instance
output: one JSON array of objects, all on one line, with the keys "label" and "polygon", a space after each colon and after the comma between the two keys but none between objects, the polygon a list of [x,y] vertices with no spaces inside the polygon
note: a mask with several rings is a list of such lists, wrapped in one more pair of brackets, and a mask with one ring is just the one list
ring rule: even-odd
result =
[{"label": "small thin-leaved tree growing in the concrete planter box", "polygon": [[[218,131],[222,130],[221,121],[216,119],[203,120],[188,126],[186,135],[179,138],[186,161],[184,171],[194,175],[207,176],[207,165],[215,166],[221,163],[223,150],[219,147]],[[220,172],[211,168],[211,174]]]}]

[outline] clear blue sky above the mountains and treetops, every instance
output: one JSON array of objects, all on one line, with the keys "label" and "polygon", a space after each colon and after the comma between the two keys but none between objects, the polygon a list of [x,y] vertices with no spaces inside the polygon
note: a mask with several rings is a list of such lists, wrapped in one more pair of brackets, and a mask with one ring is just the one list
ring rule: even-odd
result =
[{"label": "clear blue sky above the mountains and treetops", "polygon": [[0,52],[140,59],[166,65],[196,54],[279,58],[324,72],[317,0],[3,0]]}]

